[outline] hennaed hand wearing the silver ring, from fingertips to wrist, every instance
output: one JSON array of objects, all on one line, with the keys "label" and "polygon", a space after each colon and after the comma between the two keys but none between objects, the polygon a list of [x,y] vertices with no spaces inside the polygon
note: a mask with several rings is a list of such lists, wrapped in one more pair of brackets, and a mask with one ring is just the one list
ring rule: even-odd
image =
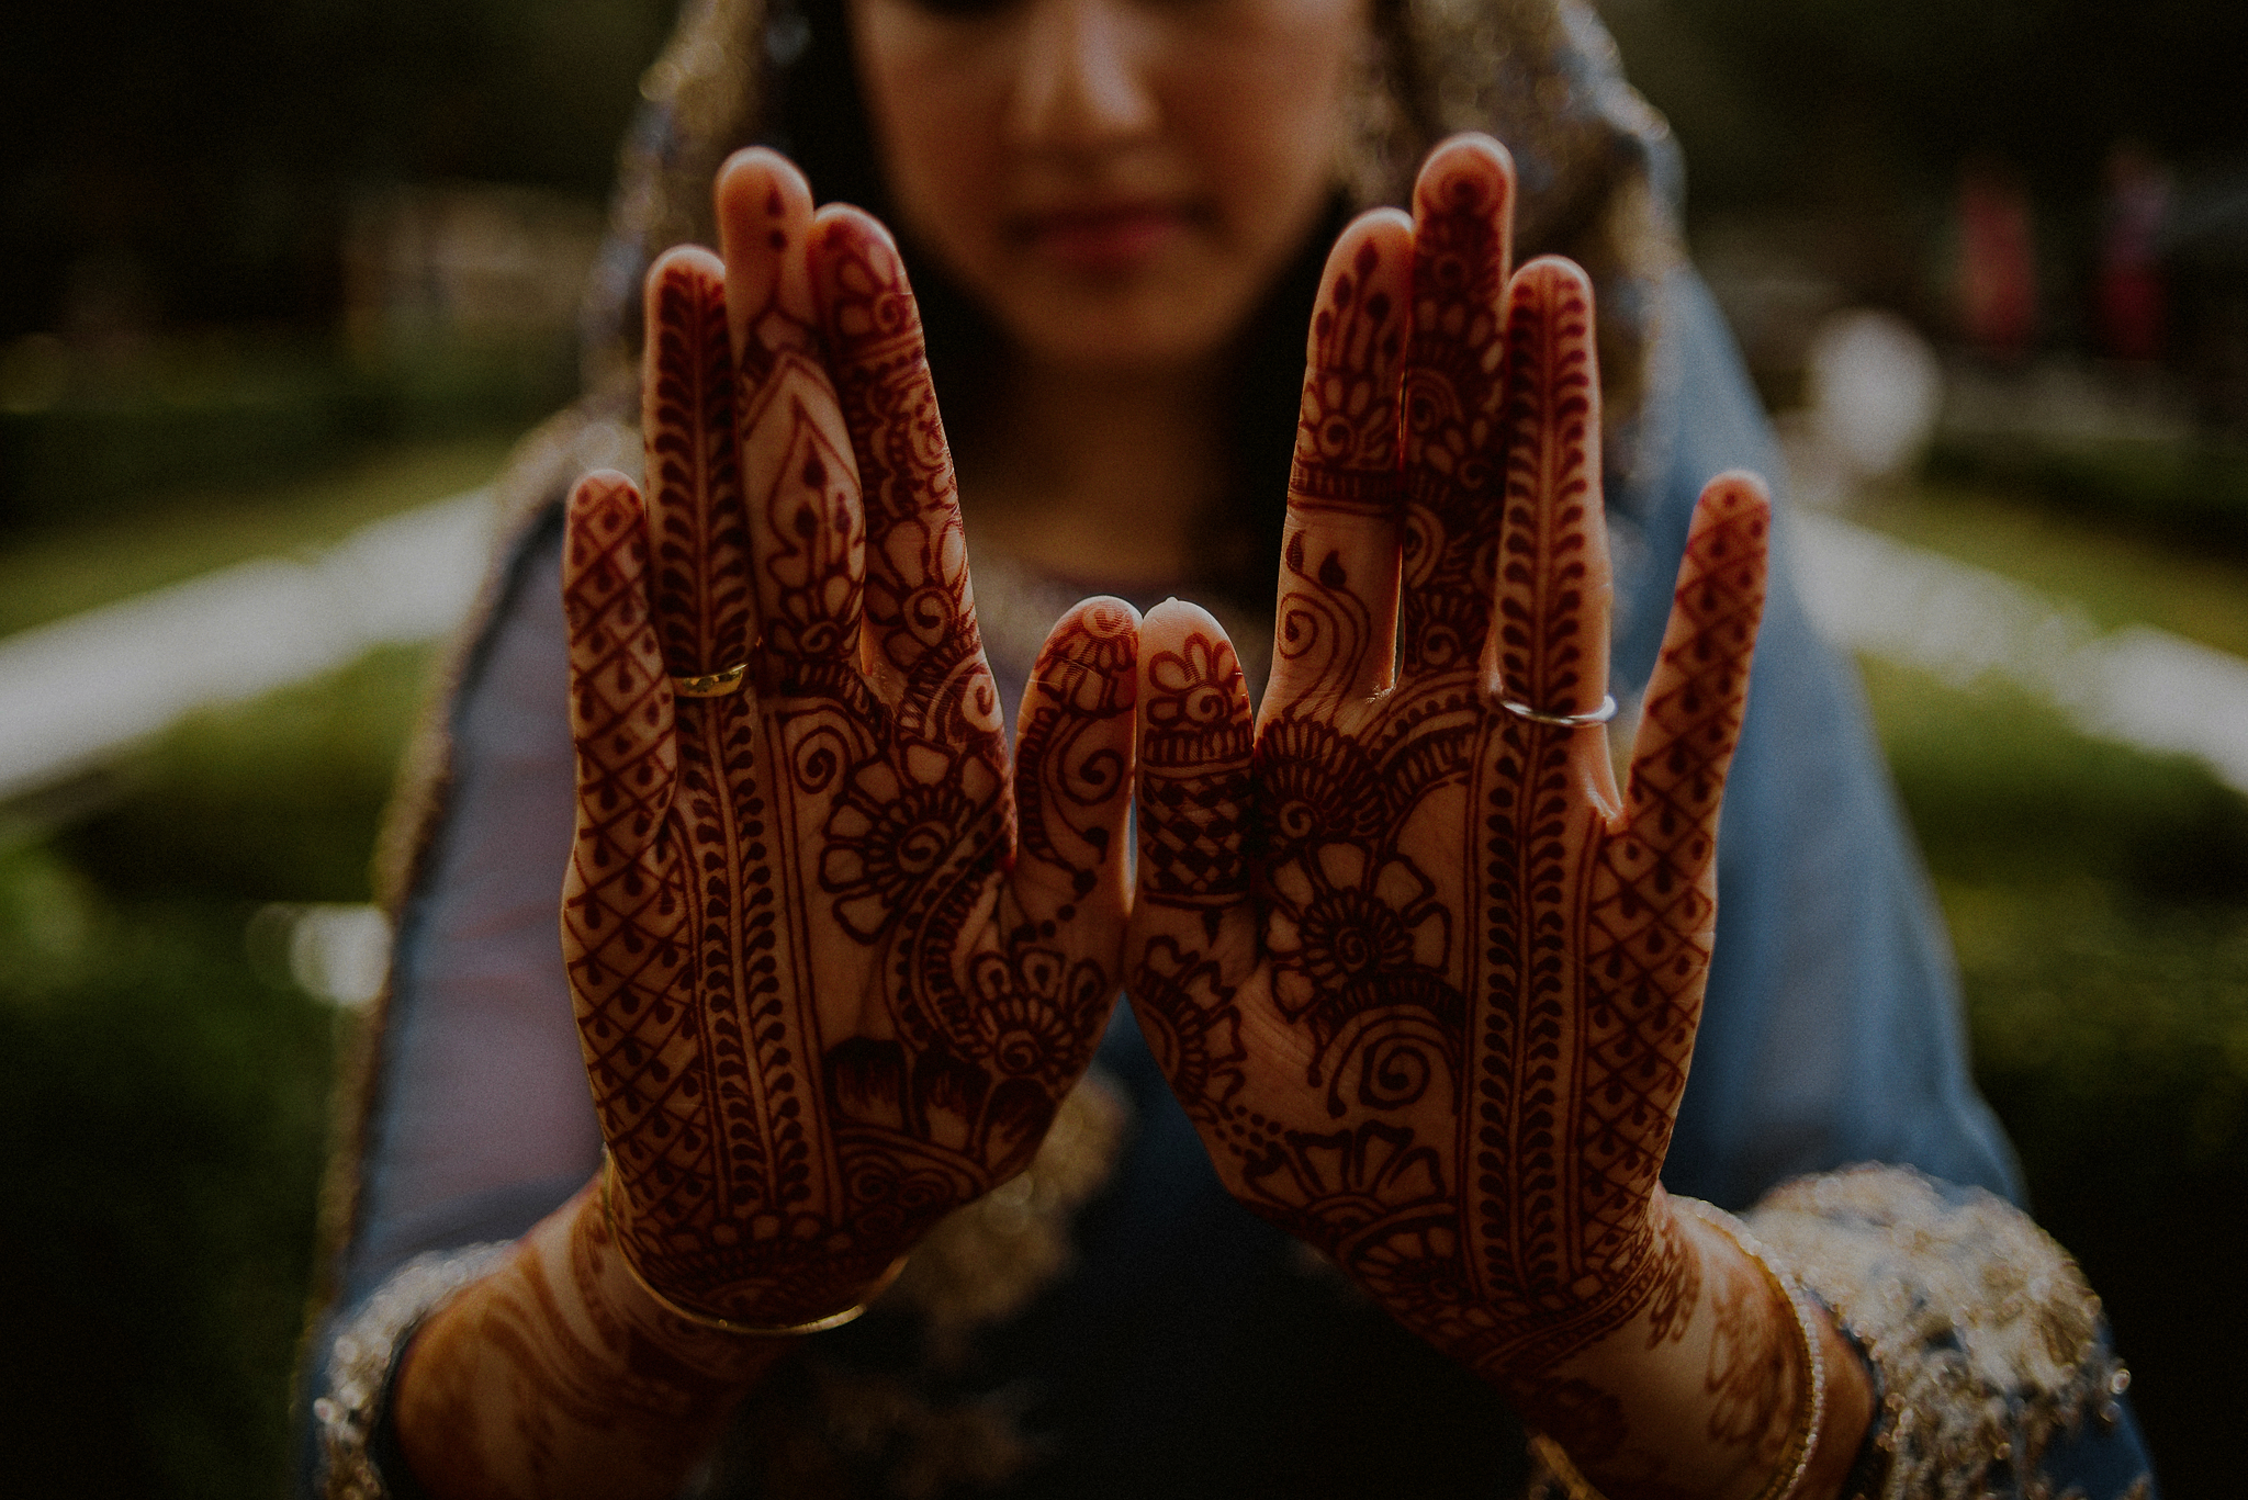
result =
[{"label": "hennaed hand wearing the silver ring, from fingertips to wrist", "polygon": [[1142,627],[1128,985],[1227,1187],[1499,1381],[1699,1295],[1652,1205],[1767,528],[1704,493],[1625,796],[1499,706],[1592,711],[1610,607],[1592,290],[1511,191],[1452,142],[1329,261],[1254,740],[1216,623]]}]

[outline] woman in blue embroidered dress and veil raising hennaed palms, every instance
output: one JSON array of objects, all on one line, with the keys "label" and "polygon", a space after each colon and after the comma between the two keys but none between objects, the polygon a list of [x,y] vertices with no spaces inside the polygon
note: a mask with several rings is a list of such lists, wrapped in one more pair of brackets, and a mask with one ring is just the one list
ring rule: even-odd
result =
[{"label": "woman in blue embroidered dress and veil raising hennaed palms", "polygon": [[[1765,605],[1758,486],[1693,504],[1769,454],[1589,16],[715,4],[652,83],[627,241],[690,238],[679,180],[762,130],[926,256],[1016,762],[904,263],[737,155],[724,259],[647,277],[645,504],[593,475],[555,515],[620,457],[614,376],[517,468],[411,830],[330,1489],[674,1493],[728,1421],[699,1482],[744,1493],[1488,1489],[1499,1392],[1544,1482],[1616,1496],[2142,1473],[2082,1282],[1967,1192],[2005,1149],[1848,690]],[[1403,198],[1466,124],[1520,214],[1450,142],[1306,295],[1338,187]],[[1587,279],[1508,277],[1517,220],[1592,270],[1605,378]],[[1304,308],[1279,484],[1257,349]],[[1254,726],[1189,605],[1088,600],[1032,666],[1041,587],[1223,582],[1259,486]],[[1960,1187],[1794,1183],[1765,1248],[1655,1181],[1850,1160]]]}]

